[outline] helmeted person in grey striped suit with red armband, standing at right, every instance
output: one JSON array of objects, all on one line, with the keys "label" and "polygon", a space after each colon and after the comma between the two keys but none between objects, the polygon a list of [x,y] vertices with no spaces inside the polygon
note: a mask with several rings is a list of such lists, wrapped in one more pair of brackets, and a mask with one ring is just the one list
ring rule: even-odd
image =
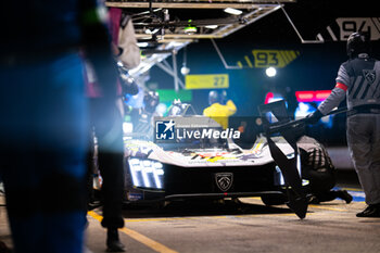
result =
[{"label": "helmeted person in grey striped suit with red armband, standing at right", "polygon": [[356,216],[380,217],[380,62],[369,56],[366,34],[352,34],[346,50],[350,59],[340,66],[335,87],[307,122],[315,124],[346,98],[347,144],[368,204]]}]

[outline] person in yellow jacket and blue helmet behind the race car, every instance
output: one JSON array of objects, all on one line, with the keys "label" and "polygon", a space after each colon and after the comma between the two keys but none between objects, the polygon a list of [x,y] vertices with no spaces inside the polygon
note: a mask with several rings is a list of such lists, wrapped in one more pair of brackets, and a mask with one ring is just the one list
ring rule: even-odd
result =
[{"label": "person in yellow jacket and blue helmet behind the race car", "polygon": [[220,92],[212,90],[208,92],[210,106],[203,110],[204,116],[212,117],[215,122],[219,123],[224,129],[228,127],[228,117],[237,112],[237,106],[232,100],[226,102],[226,90]]}]

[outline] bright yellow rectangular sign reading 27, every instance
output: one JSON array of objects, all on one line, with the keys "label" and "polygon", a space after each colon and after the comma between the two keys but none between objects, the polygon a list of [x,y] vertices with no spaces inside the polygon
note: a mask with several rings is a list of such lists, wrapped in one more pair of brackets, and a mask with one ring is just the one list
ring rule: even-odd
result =
[{"label": "bright yellow rectangular sign reading 27", "polygon": [[228,74],[186,75],[187,89],[224,89],[229,87]]}]

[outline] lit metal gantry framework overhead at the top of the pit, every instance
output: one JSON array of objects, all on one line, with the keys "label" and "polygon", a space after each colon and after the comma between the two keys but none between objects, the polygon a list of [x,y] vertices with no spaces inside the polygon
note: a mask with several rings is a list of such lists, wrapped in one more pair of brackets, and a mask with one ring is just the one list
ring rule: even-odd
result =
[{"label": "lit metal gantry framework overhead at the top of the pit", "polygon": [[[173,55],[172,69],[178,79],[176,53],[198,39],[224,38],[295,0],[109,0],[107,7],[126,8],[132,16],[136,37],[145,55],[131,69],[132,76],[143,74],[156,63]],[[239,10],[229,14],[226,9]],[[215,45],[215,43],[214,43]],[[216,46],[215,46],[216,47]],[[217,47],[216,47],[217,49]],[[217,49],[223,59],[220,51]],[[168,64],[166,63],[166,66]],[[179,84],[175,84],[178,89]]]}]

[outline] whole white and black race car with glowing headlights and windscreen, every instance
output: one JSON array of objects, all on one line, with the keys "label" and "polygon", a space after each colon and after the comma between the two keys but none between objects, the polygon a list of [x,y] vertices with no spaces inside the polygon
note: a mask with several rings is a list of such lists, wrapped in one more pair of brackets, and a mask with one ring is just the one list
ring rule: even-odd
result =
[{"label": "whole white and black race car with glowing headlights and windscreen", "polygon": [[[286,192],[292,180],[284,179],[273,159],[267,137],[259,135],[251,148],[241,148],[239,130],[223,129],[215,118],[172,111],[174,116],[154,118],[151,140],[125,140],[126,202],[261,197],[266,204],[283,204],[289,200]],[[284,157],[295,157],[293,174],[300,179],[296,149],[282,136],[270,142]]]}]

